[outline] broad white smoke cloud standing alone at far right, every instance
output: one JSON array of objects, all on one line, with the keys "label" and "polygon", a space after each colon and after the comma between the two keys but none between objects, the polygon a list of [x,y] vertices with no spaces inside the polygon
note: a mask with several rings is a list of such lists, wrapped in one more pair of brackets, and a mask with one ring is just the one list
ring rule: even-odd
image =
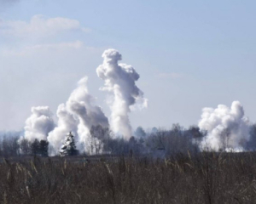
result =
[{"label": "broad white smoke cloud standing alone at far right", "polygon": [[[202,110],[201,130],[207,131],[206,139],[201,141],[202,150],[232,149],[242,150],[249,140],[249,120],[244,116],[244,110],[239,101],[234,101],[231,108],[218,105],[217,109]],[[224,131],[228,130],[228,135]],[[229,138],[225,138],[225,137]],[[226,145],[224,146],[224,141]]]}]

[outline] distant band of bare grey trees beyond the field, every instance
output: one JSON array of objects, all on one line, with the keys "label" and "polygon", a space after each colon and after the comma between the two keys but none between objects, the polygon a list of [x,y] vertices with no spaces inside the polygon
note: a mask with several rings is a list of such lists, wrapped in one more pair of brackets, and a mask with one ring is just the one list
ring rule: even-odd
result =
[{"label": "distant band of bare grey trees beyond the field", "polygon": [[[77,146],[77,142],[66,136],[61,150],[55,150],[48,141],[35,139],[33,142],[20,137],[21,132],[0,133],[0,156],[71,156],[71,155],[114,155],[114,156],[153,156],[166,157],[177,153],[193,154],[201,151],[213,151],[202,149],[207,132],[199,127],[181,127],[173,124],[172,128],[152,128],[145,131],[143,127],[137,127],[134,136],[129,140],[115,136],[108,127],[93,126],[90,128],[90,139],[84,147]],[[230,135],[226,129],[221,135],[221,143],[218,151],[232,151],[229,149]],[[79,144],[83,145],[83,144]],[[250,127],[250,140],[244,142],[239,151],[256,149],[256,124]],[[237,151],[237,150],[234,150]]]}]

